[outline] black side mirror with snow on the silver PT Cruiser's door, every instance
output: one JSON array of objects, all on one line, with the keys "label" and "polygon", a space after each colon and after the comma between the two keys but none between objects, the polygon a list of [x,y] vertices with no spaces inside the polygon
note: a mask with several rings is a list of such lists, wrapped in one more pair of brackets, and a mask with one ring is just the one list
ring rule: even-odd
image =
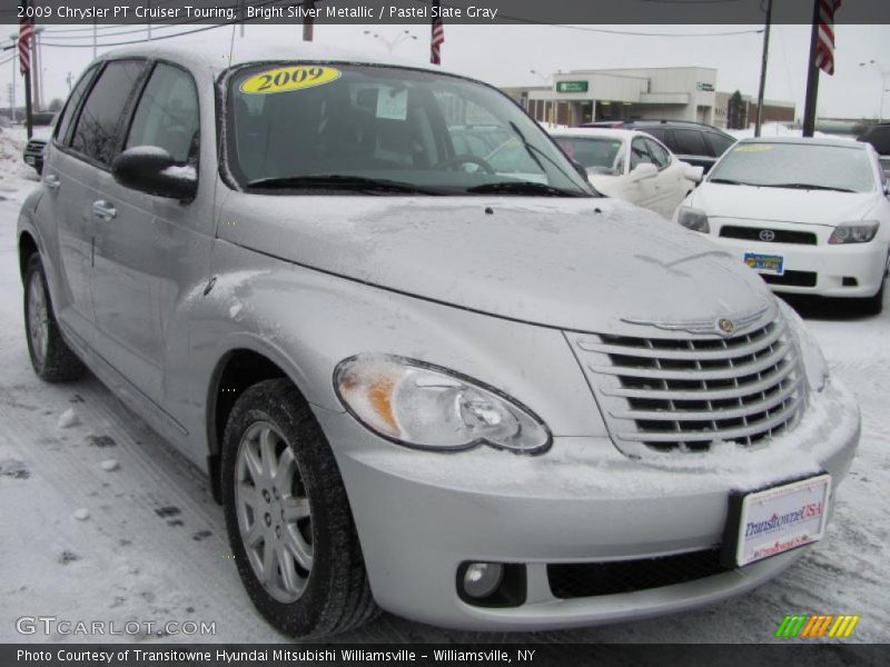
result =
[{"label": "black side mirror with snow on the silver PT Cruiser's door", "polygon": [[191,201],[198,191],[195,167],[177,163],[157,146],[125,150],[111,162],[111,176],[123,187],[179,201]]}]

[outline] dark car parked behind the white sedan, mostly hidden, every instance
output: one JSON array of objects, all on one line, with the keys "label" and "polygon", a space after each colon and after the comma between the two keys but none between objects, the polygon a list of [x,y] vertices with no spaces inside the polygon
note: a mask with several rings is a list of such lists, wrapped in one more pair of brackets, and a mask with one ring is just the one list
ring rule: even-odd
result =
[{"label": "dark car parked behind the white sedan, mostly hidden", "polygon": [[584,128],[639,130],[652,135],[684,162],[708,173],[725,150],[735,143],[732,135],[709,125],[685,120],[606,120],[585,123]]}]

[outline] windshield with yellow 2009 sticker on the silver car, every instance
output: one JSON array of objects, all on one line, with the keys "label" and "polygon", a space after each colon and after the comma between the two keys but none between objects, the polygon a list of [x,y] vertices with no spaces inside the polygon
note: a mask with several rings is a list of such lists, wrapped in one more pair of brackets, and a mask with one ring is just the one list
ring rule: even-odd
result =
[{"label": "windshield with yellow 2009 sticker on the silver car", "polygon": [[264,193],[592,196],[516,104],[457,77],[360,64],[253,66],[228,78],[226,109],[229,171]]}]

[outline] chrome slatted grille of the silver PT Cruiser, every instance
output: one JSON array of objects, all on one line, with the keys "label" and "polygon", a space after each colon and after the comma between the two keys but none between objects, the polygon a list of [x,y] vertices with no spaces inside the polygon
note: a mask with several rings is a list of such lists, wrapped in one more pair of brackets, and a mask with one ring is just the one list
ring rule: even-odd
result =
[{"label": "chrome slatted grille of the silver PT Cruiser", "polygon": [[803,406],[797,347],[778,316],[730,338],[568,336],[627,454],[750,446],[792,427]]}]

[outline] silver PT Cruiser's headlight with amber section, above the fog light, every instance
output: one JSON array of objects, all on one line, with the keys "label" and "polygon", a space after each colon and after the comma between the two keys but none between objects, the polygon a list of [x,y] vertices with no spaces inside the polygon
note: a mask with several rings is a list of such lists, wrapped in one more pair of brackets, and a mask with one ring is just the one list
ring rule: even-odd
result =
[{"label": "silver PT Cruiser's headlight with amber section, above the fog light", "polygon": [[517,401],[421,361],[350,357],[337,366],[334,386],[356,419],[399,445],[459,450],[485,444],[523,454],[551,445],[544,422]]}]

